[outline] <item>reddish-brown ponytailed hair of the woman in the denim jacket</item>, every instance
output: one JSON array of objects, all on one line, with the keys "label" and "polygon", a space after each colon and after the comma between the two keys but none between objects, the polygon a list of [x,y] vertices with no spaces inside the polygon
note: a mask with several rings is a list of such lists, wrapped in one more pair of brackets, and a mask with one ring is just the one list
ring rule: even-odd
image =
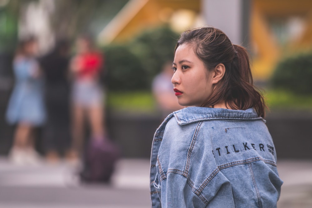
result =
[{"label": "reddish-brown ponytailed hair of the woman in the denim jacket", "polygon": [[225,66],[223,78],[202,107],[225,101],[231,109],[254,108],[259,116],[265,116],[266,105],[262,94],[253,85],[249,57],[244,47],[232,44],[224,32],[213,27],[183,32],[174,53],[182,44],[191,44],[208,70],[215,69],[221,63]]}]

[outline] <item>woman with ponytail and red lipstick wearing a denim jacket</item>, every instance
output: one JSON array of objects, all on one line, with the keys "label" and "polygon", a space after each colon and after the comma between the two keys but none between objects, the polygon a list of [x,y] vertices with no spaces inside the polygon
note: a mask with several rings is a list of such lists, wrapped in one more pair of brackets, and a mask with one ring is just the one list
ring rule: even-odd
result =
[{"label": "woman with ponytail and red lipstick wearing a denim jacket", "polygon": [[154,135],[152,207],[276,207],[283,182],[246,50],[215,28],[185,31],[173,71],[179,104],[192,107]]}]

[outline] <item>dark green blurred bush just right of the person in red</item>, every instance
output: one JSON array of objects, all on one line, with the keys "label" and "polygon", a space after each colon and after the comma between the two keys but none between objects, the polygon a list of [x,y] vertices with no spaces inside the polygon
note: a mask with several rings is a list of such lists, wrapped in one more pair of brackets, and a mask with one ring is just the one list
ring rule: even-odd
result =
[{"label": "dark green blurred bush just right of the person in red", "polygon": [[109,90],[135,90],[147,87],[146,73],[138,59],[126,46],[104,48],[105,70]]}]

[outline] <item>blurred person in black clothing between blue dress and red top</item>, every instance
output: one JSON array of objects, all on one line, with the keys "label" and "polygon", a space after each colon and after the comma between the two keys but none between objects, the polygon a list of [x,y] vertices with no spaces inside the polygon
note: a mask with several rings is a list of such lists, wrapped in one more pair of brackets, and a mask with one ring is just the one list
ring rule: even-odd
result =
[{"label": "blurred person in black clothing between blue dress and red top", "polygon": [[[46,159],[56,162],[70,146],[69,43],[60,40],[55,48],[40,59],[45,74],[47,121],[44,127]],[[59,152],[61,151],[61,152]]]}]

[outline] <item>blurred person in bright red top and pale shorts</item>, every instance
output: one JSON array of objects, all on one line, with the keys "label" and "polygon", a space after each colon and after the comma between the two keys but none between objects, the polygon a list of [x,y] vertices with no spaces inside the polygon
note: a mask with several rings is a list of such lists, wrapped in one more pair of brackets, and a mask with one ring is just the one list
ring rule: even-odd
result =
[{"label": "blurred person in bright red top and pale shorts", "polygon": [[77,54],[72,58],[70,68],[73,74],[72,124],[73,157],[82,151],[85,135],[85,119],[90,123],[91,138],[102,139],[104,125],[104,91],[100,84],[103,70],[103,54],[96,51],[89,36],[79,36],[76,41]]}]

